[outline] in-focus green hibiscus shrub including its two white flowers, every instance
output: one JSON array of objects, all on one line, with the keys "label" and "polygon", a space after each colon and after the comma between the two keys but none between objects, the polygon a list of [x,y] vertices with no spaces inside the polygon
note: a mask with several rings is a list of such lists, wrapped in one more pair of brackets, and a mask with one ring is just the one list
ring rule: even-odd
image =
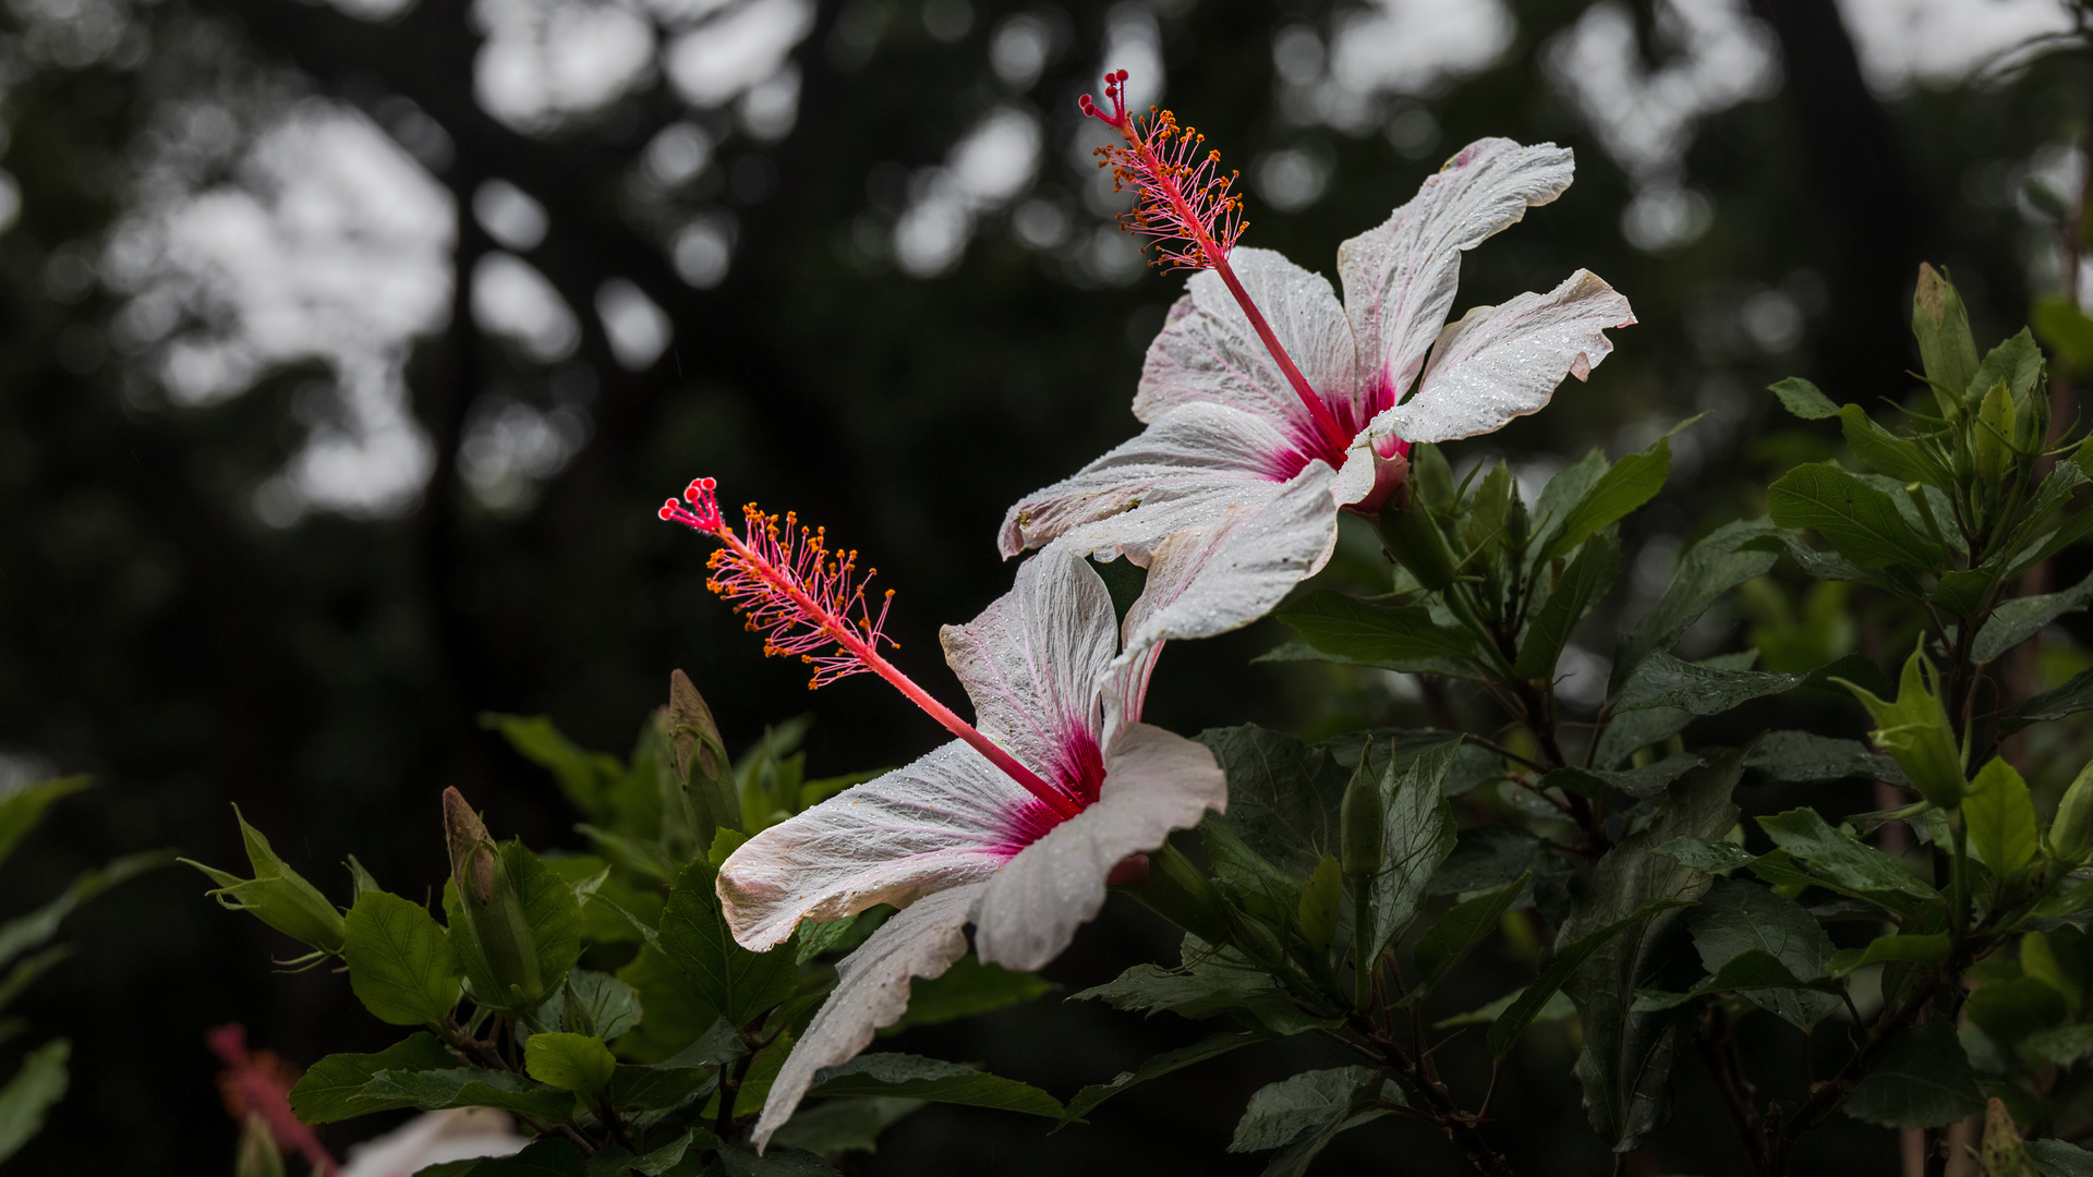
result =
[{"label": "in-focus green hibiscus shrub including its two white flowers", "polygon": [[[1787,1173],[1798,1137],[1833,1116],[1923,1129],[1938,1164],[1938,1129],[1980,1112],[1986,1173],[2093,1171],[2070,1143],[2093,1131],[2093,767],[2049,823],[2022,775],[2068,775],[2053,733],[2093,710],[2093,670],[2039,689],[2030,658],[2039,630],[2093,601],[2093,578],[2043,591],[2093,530],[2093,446],[2053,438],[2034,339],[1980,354],[1928,268],[1923,387],[1894,427],[1806,381],[1775,385],[1796,417],[1836,417],[1867,469],[1798,465],[1769,488],[1769,517],[1710,530],[1620,626],[1603,695],[1578,702],[1557,691],[1566,649],[1612,593],[1620,521],[1662,490],[1670,440],[1593,452],[1532,501],[1505,463],[1457,478],[1438,448],[1538,410],[1633,323],[1578,272],[1444,325],[1459,253],[1553,199],[1568,153],[1469,147],[1340,251],[1340,304],[1291,262],[1237,249],[1231,178],[1168,115],[1128,117],[1120,84],[1109,115],[1084,109],[1126,140],[1109,155],[1139,191],[1132,226],[1199,272],[1149,352],[1149,429],[1019,503],[1005,549],[1040,551],[942,632],[973,720],[883,658],[885,597],[856,553],[756,507],[737,528],[714,482],[693,482],[661,517],[718,545],[710,586],[772,653],[814,685],[885,679],[954,739],[904,769],[808,781],[797,729],[733,760],[680,674],[630,762],[498,716],[586,815],[592,852],[498,842],[448,792],[442,921],[354,861],[343,915],[249,831],[255,878],[213,871],[226,894],[412,1028],[320,1060],[291,1110],[316,1125],[483,1106],[538,1137],[427,1171],[444,1175],[820,1173],[921,1102],[1070,1125],[1136,1083],[1319,1035],[1352,1064],[1258,1091],[1231,1150],[1293,1175],[1394,1114],[1503,1175],[1496,1076],[1536,1022],[1574,1020],[1559,1079],[1618,1154],[1664,1123],[1691,1047],[1760,1175]],[[2062,329],[2093,337],[2083,318]],[[1369,597],[1302,584],[1346,513],[1386,549]],[[1762,603],[1764,578],[1796,570],[1909,635],[1894,679],[1842,647],[1798,664],[1838,643],[1773,628],[1775,668],[1754,668],[1758,649],[1674,653],[1727,595],[1752,584]],[[1266,658],[1417,676],[1440,727],[1310,743],[1141,720],[1166,639],[1266,614],[1298,635]],[[1815,729],[1756,729],[1790,693]],[[1873,748],[1846,737],[1863,716]],[[1869,781],[1884,808],[1758,813],[1779,796],[1766,785],[1823,798],[1833,781]],[[1042,995],[1032,972],[1111,888],[1183,928],[1183,949],[1074,999],[1222,1020],[1212,1037],[1067,1102],[862,1053],[881,1028]],[[1465,961],[1494,942],[1530,976],[1476,1001],[1484,970]],[[1802,1081],[1752,1074],[1766,1051],[1739,1049],[1743,1024],[1790,1035]]]}]

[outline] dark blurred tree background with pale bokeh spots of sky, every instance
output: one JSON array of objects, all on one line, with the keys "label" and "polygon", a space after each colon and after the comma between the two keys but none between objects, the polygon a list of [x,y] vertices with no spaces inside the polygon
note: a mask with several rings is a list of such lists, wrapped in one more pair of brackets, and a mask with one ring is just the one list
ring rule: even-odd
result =
[{"label": "dark blurred tree background with pale bokeh spots of sky", "polygon": [[[1116,232],[1088,157],[1076,94],[1107,67],[1243,170],[1245,243],[1325,272],[1473,138],[1576,147],[1576,186],[1471,253],[1459,304],[1586,266],[1641,325],[1455,457],[1494,446],[1538,486],[1710,410],[1624,536],[1633,616],[1681,542],[1831,452],[1769,423],[1771,379],[1911,387],[1919,260],[1953,270],[1986,346],[2078,281],[2076,27],[2049,0],[6,0],[0,779],[100,787],[0,880],[42,898],[151,846],[237,865],[237,802],[337,898],[350,852],[435,886],[444,785],[502,836],[578,846],[550,779],[477,716],[624,750],[676,666],[730,746],[816,716],[820,775],[938,743],[871,681],[810,697],[766,664],[703,591],[707,545],[653,507],[712,473],[827,524],[898,588],[898,662],[957,699],[938,624],[1007,588],[1013,498],[1134,431],[1180,287]],[[1373,559],[1348,538],[1333,576]],[[1783,641],[1903,641],[1865,612],[1810,628],[1802,586],[1760,588],[1695,641],[1769,664]],[[1281,635],[1174,647],[1149,718],[1427,720],[1386,674],[1252,666]],[[82,953],[23,1009],[73,1037],[73,1091],[15,1171],[228,1171],[211,1024],[297,1062],[387,1041],[341,978],[268,972],[289,942],[201,892],[161,871],[75,917]],[[1166,951],[1116,901],[1049,976]],[[1551,1032],[1507,1076],[1503,1143],[1605,1173]],[[906,1049],[1065,1093],[1197,1035],[1046,1001]],[[1256,1173],[1220,1152],[1270,1079],[1237,1060],[1046,1139],[931,1108],[854,1164]],[[1743,1171],[1702,1072],[1679,1074],[1637,1164]],[[1323,1167],[1463,1171],[1404,1133],[1352,1133]],[[1898,1171],[1880,1135],[1823,1135],[1819,1164]]]}]

